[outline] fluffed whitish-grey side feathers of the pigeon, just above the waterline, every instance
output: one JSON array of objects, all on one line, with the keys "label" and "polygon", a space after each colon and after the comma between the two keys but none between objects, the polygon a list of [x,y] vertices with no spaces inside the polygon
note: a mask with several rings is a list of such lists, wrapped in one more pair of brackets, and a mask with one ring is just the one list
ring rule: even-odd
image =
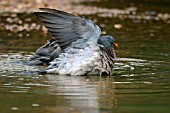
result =
[{"label": "fluffed whitish-grey side feathers of the pigeon, just above the waterline", "polygon": [[[99,74],[101,59],[102,56],[98,45],[88,46],[84,49],[70,48],[51,62],[47,73],[69,75]],[[50,67],[52,68],[50,69]]]}]

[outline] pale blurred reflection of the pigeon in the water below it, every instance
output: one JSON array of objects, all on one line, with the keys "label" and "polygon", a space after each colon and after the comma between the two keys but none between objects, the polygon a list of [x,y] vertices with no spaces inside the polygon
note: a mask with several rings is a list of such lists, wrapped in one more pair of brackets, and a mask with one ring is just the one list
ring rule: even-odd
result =
[{"label": "pale blurred reflection of the pigeon in the water below it", "polygon": [[46,76],[56,95],[56,105],[47,108],[52,113],[102,113],[117,105],[112,76]]}]

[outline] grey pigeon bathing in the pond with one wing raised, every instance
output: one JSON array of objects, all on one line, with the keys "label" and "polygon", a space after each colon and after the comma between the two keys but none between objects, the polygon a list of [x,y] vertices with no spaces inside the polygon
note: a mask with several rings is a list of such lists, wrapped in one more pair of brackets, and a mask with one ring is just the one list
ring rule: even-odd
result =
[{"label": "grey pigeon bathing in the pond with one wing raised", "polygon": [[40,8],[34,12],[52,36],[36,50],[29,65],[46,65],[40,72],[64,75],[111,75],[115,39],[102,36],[101,29],[85,17]]}]

